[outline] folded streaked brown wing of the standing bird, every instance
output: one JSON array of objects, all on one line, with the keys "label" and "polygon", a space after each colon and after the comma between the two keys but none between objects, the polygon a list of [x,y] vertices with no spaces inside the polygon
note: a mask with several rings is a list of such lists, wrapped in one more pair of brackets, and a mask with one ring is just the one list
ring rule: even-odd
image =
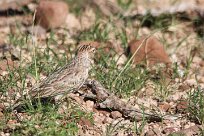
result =
[{"label": "folded streaked brown wing of the standing bird", "polygon": [[48,76],[38,88],[31,91],[33,97],[51,97],[72,91],[83,84],[85,79],[81,77],[81,71],[74,67],[56,71]]}]

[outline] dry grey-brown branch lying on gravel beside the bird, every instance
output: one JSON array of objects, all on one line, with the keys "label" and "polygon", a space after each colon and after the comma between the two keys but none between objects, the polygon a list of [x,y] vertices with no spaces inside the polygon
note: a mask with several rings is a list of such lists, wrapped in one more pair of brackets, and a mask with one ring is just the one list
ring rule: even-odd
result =
[{"label": "dry grey-brown branch lying on gravel beside the bird", "polygon": [[98,105],[97,108],[117,110],[123,114],[124,117],[132,120],[147,119],[149,121],[161,121],[162,117],[158,115],[144,113],[128,103],[122,101],[120,98],[111,94],[110,91],[105,89],[98,81],[87,81],[85,84],[91,88],[91,92],[83,94],[85,98],[94,99]]}]

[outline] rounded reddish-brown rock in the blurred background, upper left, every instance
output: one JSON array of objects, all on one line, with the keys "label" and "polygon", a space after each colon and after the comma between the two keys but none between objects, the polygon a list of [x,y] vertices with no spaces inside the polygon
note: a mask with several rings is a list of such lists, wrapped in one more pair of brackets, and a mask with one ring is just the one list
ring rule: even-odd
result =
[{"label": "rounded reddish-brown rock in the blurred background, upper left", "polygon": [[68,5],[62,1],[40,1],[35,21],[45,29],[61,26],[67,17]]}]

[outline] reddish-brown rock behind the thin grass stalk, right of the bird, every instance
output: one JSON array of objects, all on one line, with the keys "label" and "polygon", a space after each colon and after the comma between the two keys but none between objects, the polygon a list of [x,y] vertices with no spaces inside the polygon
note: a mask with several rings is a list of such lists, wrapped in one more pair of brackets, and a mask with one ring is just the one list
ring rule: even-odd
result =
[{"label": "reddish-brown rock behind the thin grass stalk, right of the bird", "polygon": [[146,41],[145,38],[132,40],[129,43],[128,50],[132,55],[138,50],[134,56],[135,64],[139,64],[143,61],[146,62],[147,66],[153,66],[157,63],[164,63],[167,66],[171,64],[163,45],[155,36],[147,38]]}]

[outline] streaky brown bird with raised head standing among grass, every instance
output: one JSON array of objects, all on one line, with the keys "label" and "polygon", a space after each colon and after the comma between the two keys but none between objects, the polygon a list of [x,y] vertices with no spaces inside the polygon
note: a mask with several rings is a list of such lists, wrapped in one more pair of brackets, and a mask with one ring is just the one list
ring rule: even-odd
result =
[{"label": "streaky brown bird with raised head standing among grass", "polygon": [[[81,88],[89,77],[89,71],[94,65],[96,47],[91,42],[80,44],[77,55],[70,63],[58,68],[38,85],[31,88],[23,99],[52,98],[63,96]],[[14,108],[21,104],[20,100]]]}]

